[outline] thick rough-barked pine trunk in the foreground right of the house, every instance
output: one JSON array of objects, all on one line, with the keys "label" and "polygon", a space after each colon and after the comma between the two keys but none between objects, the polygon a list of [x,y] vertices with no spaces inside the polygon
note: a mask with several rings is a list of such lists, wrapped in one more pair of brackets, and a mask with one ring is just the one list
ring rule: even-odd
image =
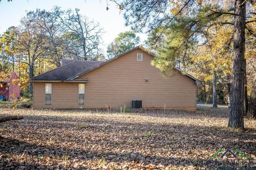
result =
[{"label": "thick rough-barked pine trunk in the foreground right of the house", "polygon": [[235,1],[233,79],[228,126],[244,129],[244,52],[246,2]]}]

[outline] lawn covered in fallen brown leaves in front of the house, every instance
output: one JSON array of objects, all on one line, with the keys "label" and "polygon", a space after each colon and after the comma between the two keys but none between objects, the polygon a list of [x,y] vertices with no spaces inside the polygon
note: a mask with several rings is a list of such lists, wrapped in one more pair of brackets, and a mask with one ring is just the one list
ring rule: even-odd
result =
[{"label": "lawn covered in fallen brown leaves in front of the house", "polygon": [[220,148],[238,148],[255,162],[256,121],[245,118],[245,131],[226,128],[227,108],[125,114],[0,109],[6,115],[24,119],[0,124],[2,169],[209,169],[223,167],[206,164]]}]

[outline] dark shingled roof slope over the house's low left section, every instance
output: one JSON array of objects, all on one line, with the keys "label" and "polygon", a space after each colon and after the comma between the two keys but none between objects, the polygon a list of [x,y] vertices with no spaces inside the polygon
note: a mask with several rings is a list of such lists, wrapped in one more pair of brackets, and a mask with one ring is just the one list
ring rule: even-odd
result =
[{"label": "dark shingled roof slope over the house's low left section", "polygon": [[[99,61],[72,61],[65,60],[60,67],[31,78],[31,81],[67,81],[68,78],[79,72],[89,69],[102,62]],[[75,81],[75,80],[74,80]]]}]

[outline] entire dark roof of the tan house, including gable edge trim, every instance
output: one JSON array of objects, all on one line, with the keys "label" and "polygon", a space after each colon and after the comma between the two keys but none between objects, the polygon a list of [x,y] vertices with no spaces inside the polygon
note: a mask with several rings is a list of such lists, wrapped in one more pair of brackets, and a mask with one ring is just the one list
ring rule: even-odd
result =
[{"label": "entire dark roof of the tan house, including gable edge trim", "polygon": [[[37,75],[34,78],[31,78],[31,81],[68,81],[68,82],[78,82],[82,80],[75,80],[76,78],[80,77],[81,75],[90,72],[94,69],[97,69],[98,67],[105,65],[116,58],[122,57],[127,53],[132,52],[135,49],[141,49],[143,52],[146,52],[147,54],[155,57],[155,54],[149,52],[147,49],[137,46],[135,48],[132,48],[128,50],[127,52],[124,52],[114,58],[111,58],[110,60],[107,60],[105,62],[100,61],[78,61],[78,60],[62,60],[61,66],[57,67],[56,69],[53,69],[49,72],[45,72],[43,74]],[[200,80],[194,78],[193,76],[183,72],[182,70],[178,69],[177,67],[174,67],[177,71],[181,72],[182,74],[186,75],[190,79],[193,79],[196,81],[196,83],[202,83]],[[85,82],[87,82],[85,80]]]}]

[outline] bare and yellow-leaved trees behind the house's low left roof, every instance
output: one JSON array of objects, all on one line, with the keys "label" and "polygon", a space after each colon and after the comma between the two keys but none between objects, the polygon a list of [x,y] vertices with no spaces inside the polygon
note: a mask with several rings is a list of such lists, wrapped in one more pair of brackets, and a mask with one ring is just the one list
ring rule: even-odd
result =
[{"label": "bare and yellow-leaved trees behind the house's low left roof", "polygon": [[104,60],[99,47],[102,33],[100,25],[79,9],[63,11],[56,6],[27,12],[19,27],[10,27],[1,36],[0,71],[16,71],[27,84],[35,75],[60,66],[62,59]]}]

